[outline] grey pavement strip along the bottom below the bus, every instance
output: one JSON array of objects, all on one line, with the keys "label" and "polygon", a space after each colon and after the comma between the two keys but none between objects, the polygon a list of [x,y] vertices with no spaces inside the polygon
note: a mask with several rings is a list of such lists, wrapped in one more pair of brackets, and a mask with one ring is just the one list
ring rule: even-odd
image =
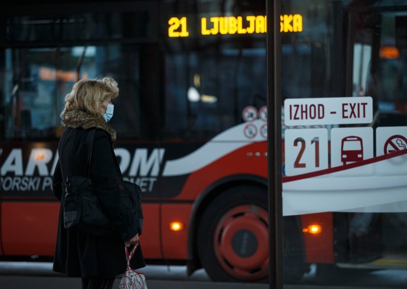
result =
[{"label": "grey pavement strip along the bottom below the bus", "polygon": [[[80,278],[68,278],[62,274],[52,272],[52,264],[46,262],[0,262],[0,289],[73,289],[81,288]],[[146,268],[138,270],[146,274],[147,285],[149,289],[268,289],[269,284],[257,283],[223,283],[212,282],[205,270],[197,270],[192,276],[187,276],[185,266],[156,266],[148,265]],[[311,270],[312,271],[312,270]],[[397,276],[405,271],[393,272]],[[361,285],[363,281],[358,279],[352,285],[333,286],[332,282],[328,284],[312,284],[314,282],[312,272],[306,280],[311,284],[284,284],[284,289],[394,289],[407,288],[407,277],[400,277],[398,283],[392,284],[388,279],[391,275],[386,274],[383,278],[387,279],[383,283],[375,283],[374,280],[368,283],[368,286]],[[403,274],[404,275],[404,274]],[[368,277],[372,279],[374,276]],[[312,279],[313,278],[313,279]],[[349,279],[349,278],[348,278]],[[119,276],[113,285],[118,288],[121,280]],[[361,282],[362,281],[362,282]]]}]

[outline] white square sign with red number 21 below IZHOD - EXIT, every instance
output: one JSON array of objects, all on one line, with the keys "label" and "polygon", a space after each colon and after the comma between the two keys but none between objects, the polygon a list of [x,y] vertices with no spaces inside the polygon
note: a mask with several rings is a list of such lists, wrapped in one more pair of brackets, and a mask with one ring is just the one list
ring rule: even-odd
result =
[{"label": "white square sign with red number 21 below IZHOD - EXIT", "polygon": [[328,130],[286,129],[284,154],[287,176],[328,168]]}]

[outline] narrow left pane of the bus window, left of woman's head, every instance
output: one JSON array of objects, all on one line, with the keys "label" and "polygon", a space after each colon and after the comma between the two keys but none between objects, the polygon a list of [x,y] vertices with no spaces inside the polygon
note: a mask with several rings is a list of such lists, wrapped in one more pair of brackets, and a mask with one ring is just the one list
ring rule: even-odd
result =
[{"label": "narrow left pane of the bus window, left of woman's head", "polygon": [[61,107],[56,98],[56,49],[7,49],[5,56],[10,64],[4,98],[6,138],[53,136],[56,107]]}]

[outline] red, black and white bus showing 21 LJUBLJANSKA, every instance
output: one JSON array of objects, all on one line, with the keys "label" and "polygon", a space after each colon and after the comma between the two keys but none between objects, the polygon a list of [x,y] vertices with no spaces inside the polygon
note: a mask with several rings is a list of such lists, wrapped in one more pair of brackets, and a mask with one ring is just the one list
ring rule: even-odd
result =
[{"label": "red, black and white bus showing 21 LJUBLJANSKA", "polygon": [[[265,1],[17,0],[0,15],[0,257],[52,257],[64,97],[81,78],[110,76],[114,152],[142,188],[148,264],[267,282]],[[406,126],[406,19],[392,1],[282,1],[283,99],[371,96],[373,128]],[[405,211],[286,215],[284,280],[311,264],[406,268],[389,257],[406,227]]]}]

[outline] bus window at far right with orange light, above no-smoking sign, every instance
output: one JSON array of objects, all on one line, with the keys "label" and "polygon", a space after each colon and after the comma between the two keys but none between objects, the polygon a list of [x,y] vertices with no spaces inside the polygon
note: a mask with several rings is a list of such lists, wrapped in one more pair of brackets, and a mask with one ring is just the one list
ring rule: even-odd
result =
[{"label": "bus window at far right with orange light, above no-smoking sign", "polygon": [[406,15],[403,11],[351,14],[353,84],[348,92],[373,98],[374,127],[407,125]]}]

